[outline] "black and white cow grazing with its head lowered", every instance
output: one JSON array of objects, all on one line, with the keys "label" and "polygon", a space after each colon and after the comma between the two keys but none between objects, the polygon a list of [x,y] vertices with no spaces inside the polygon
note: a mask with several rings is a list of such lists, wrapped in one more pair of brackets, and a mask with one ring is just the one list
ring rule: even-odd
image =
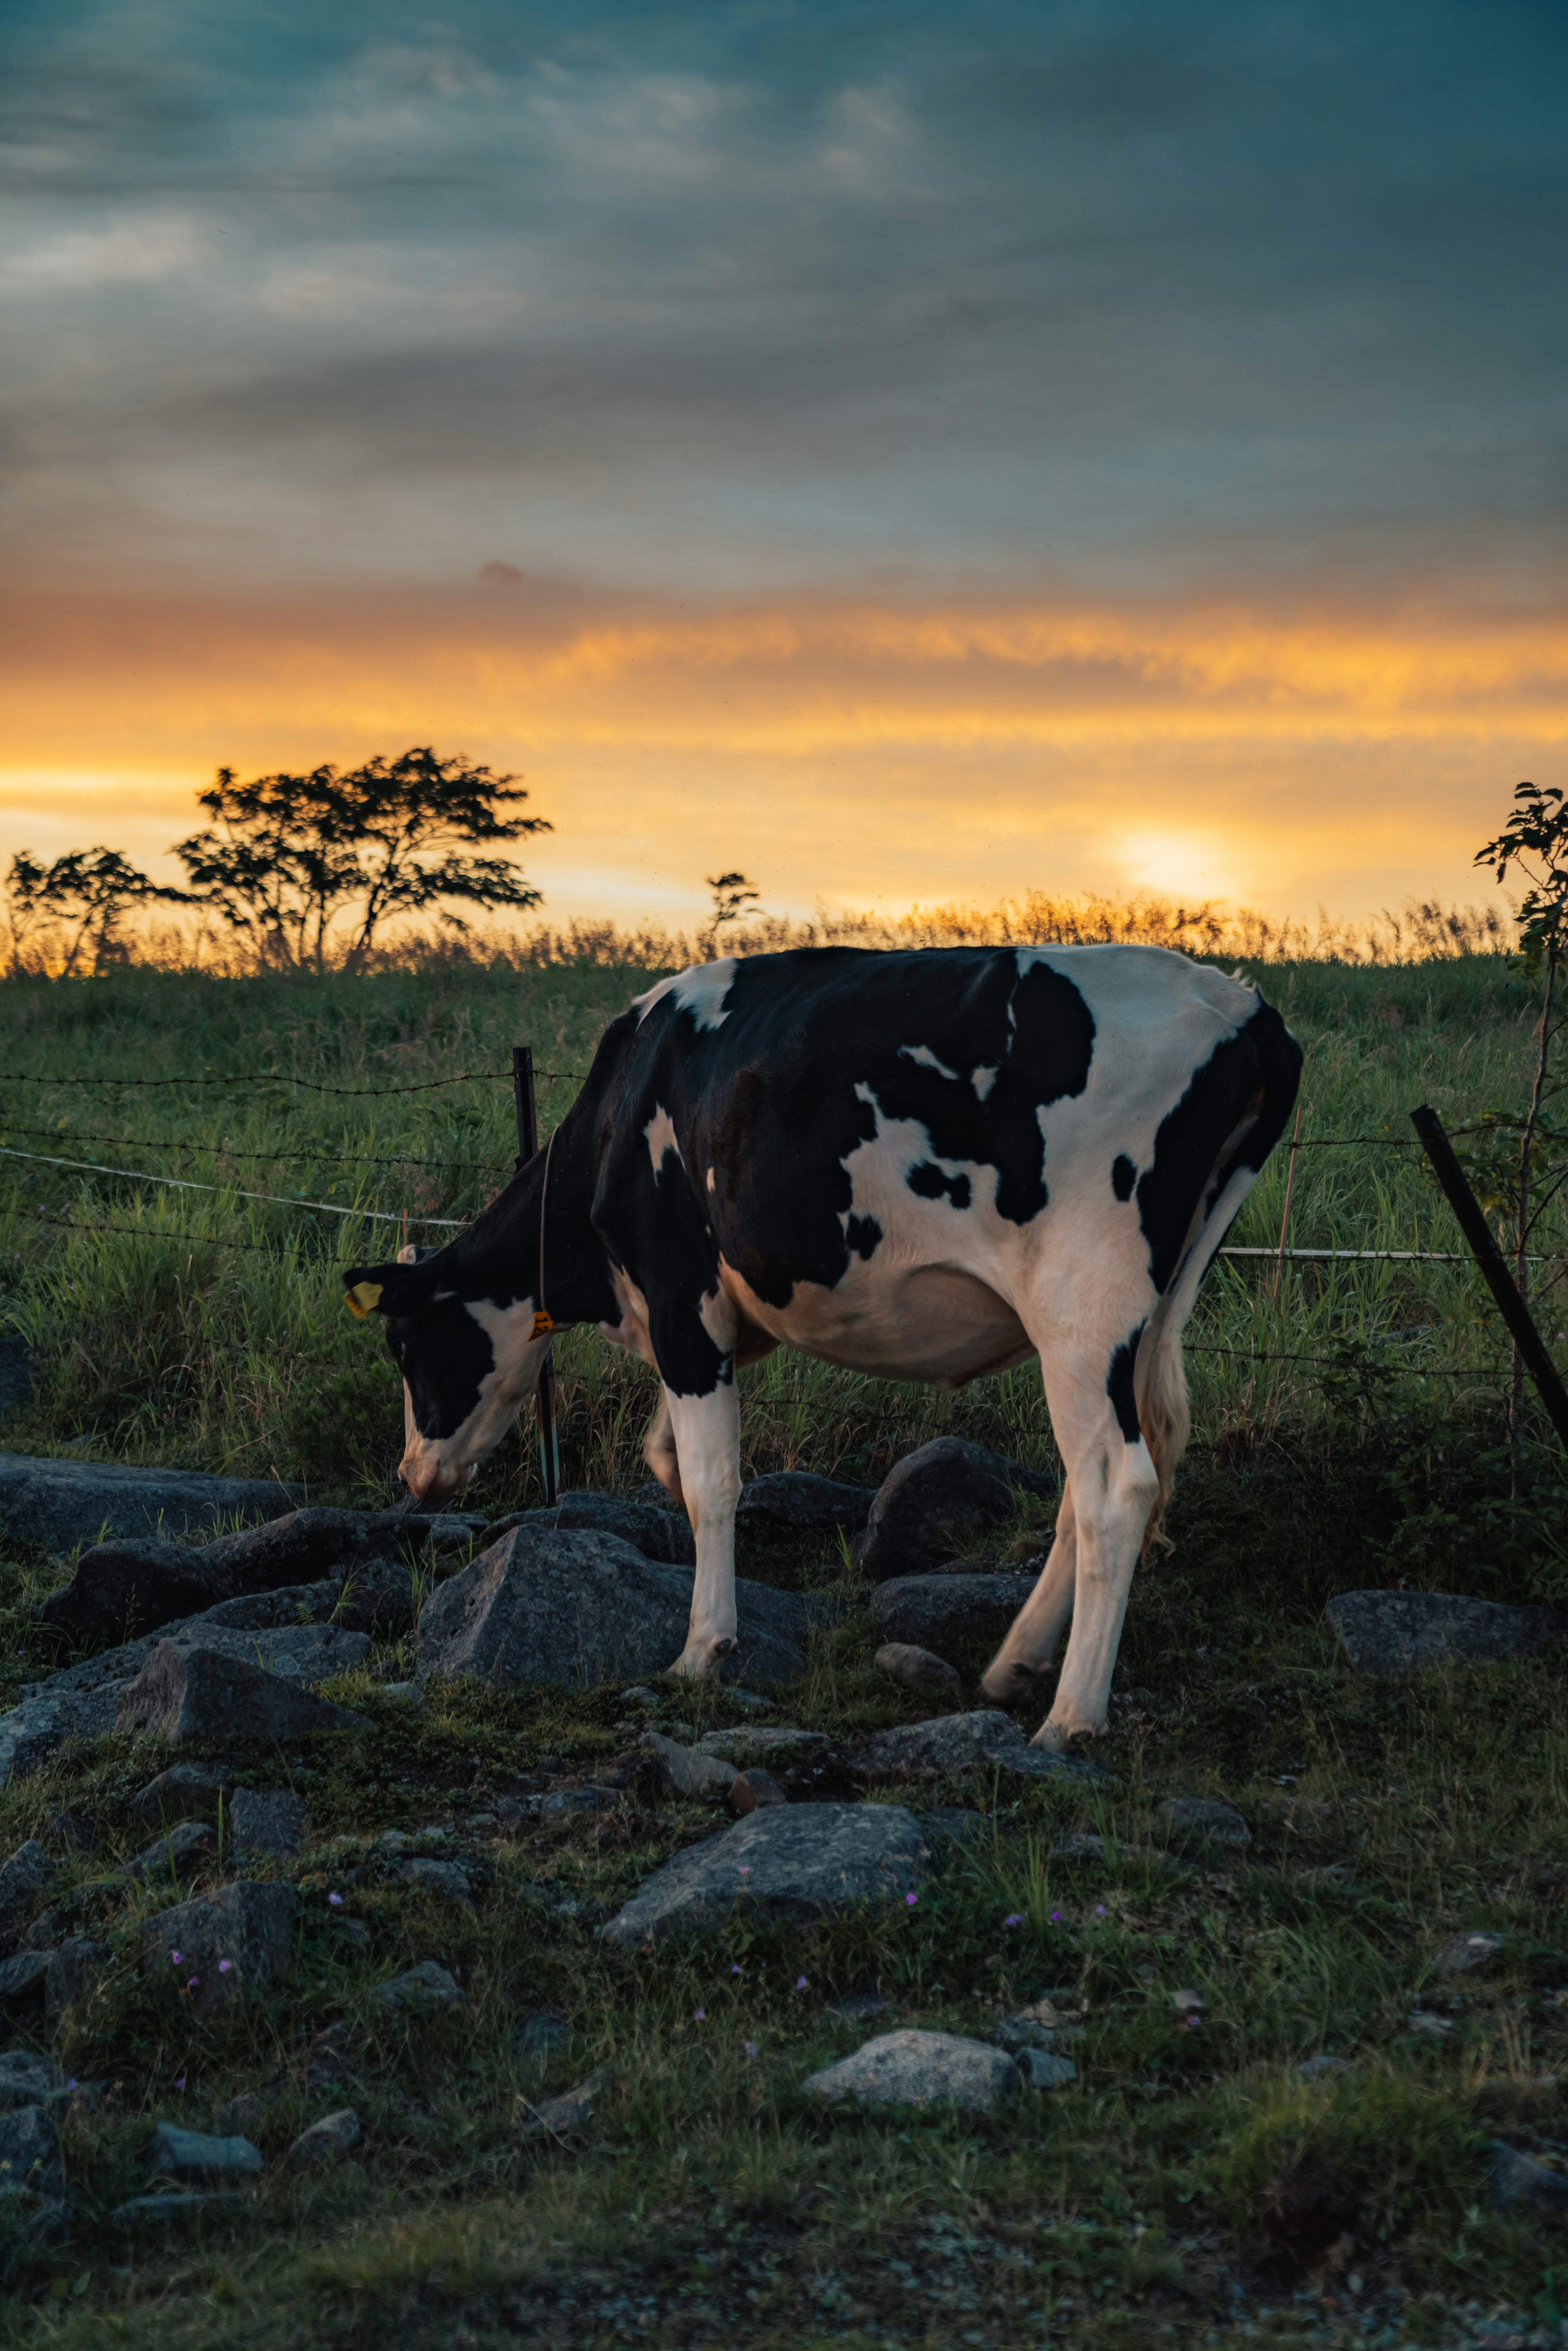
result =
[{"label": "black and white cow grazing with its head lowered", "polygon": [[679,1674],[736,1646],[736,1368],[780,1340],[957,1387],[1037,1354],[1056,1542],[990,1672],[1037,1744],[1103,1730],[1121,1615],[1187,1441],[1180,1333],[1279,1140],[1300,1049],[1161,947],[724,959],[637,997],[538,1152],[456,1241],[343,1274],[388,1317],[402,1479],[451,1495],[592,1321],[663,1380],[646,1458],[696,1531]]}]

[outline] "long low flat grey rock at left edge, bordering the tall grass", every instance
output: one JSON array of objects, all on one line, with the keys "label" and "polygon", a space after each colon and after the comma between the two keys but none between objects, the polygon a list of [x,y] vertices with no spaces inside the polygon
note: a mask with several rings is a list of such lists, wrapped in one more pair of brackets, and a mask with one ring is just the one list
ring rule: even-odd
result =
[{"label": "long low flat grey rock at left edge, bordering the tall grass", "polygon": [[273,1479],[0,1453],[0,1528],[45,1552],[73,1552],[103,1535],[139,1540],[186,1535],[223,1519],[280,1519],[301,1500],[296,1486]]}]

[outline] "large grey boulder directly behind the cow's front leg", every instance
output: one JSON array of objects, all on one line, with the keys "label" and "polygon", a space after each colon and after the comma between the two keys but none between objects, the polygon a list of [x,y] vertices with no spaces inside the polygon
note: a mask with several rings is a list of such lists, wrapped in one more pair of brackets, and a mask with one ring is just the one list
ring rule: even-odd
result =
[{"label": "large grey boulder directly behind the cow's front leg", "polygon": [[[785,1679],[806,1660],[811,1608],[797,1592],[736,1580],[736,1672]],[[418,1672],[494,1688],[576,1688],[663,1672],[684,1648],[691,1575],[618,1535],[517,1526],[440,1587],[418,1617]]]}]

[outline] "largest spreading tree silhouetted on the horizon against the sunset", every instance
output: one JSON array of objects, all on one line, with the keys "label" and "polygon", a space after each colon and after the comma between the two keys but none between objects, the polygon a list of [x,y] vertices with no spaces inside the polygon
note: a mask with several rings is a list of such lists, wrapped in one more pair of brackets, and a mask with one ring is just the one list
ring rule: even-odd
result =
[{"label": "largest spreading tree silhouetted on the horizon against the sunset", "polygon": [[520,912],[541,903],[510,858],[463,853],[550,832],[543,816],[510,813],[527,797],[515,776],[428,745],[252,783],[223,766],[200,795],[212,823],[174,856],[193,896],[275,964],[322,971],[331,924],[353,907],[343,969],[360,971],[395,915],[435,907],[461,931],[449,900]]}]

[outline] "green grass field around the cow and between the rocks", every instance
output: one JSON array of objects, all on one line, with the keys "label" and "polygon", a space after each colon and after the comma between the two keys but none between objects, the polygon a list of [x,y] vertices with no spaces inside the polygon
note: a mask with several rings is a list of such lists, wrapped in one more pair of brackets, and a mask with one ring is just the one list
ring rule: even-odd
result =
[{"label": "green grass field around the cow and between the rocks", "polygon": [[[386,1500],[400,1392],[331,1270],[390,1253],[402,1227],[237,1194],[395,1218],[473,1211],[515,1150],[510,1046],[583,1070],[646,978],[433,962],[353,983],[125,973],[0,987],[0,1145],[223,1187],[160,1192],[0,1159],[0,1314],[38,1361],[0,1441]],[[1260,978],[1307,1046],[1293,1239],[1455,1248],[1432,1178],[1394,1143],[1420,1100],[1462,1126],[1521,1098],[1533,1011],[1505,964],[1279,964]],[[454,1072],[491,1074],[447,1084]],[[219,1081],[188,1084],[197,1074]],[[110,1084],[68,1084],[85,1077]],[[400,1091],[430,1079],[442,1084]],[[571,1081],[550,1079],[545,1124],[569,1100]],[[1279,1239],[1284,1178],[1281,1157],[1237,1241]],[[1554,2081],[1568,2069],[1561,1674],[1533,1662],[1361,1683],[1335,1660],[1321,1603],[1394,1580],[1556,1594],[1561,1472],[1537,1439],[1530,1486],[1509,1500],[1505,1352],[1465,1265],[1281,1274],[1227,1260],[1190,1368],[1175,1549],[1138,1578],[1105,1742],[1117,1784],[985,1791],[985,1838],[945,1848],[933,1893],[893,1928],[611,1954],[595,1923],[712,1815],[642,1806],[597,1838],[470,1827],[517,1775],[621,1751],[621,1702],[451,1688],[404,1716],[376,1697],[407,1669],[388,1655],[339,1690],[378,1714],[376,1733],[249,1773],[308,1799],[317,1843],[303,1869],[277,1864],[299,1881],[306,1933],[284,1989],[207,2034],[132,1965],[136,1918],[167,1890],[94,1886],[146,1843],[127,1806],[158,1759],[108,1740],[9,1787],[0,1850],[52,1806],[99,1824],[99,1855],[63,1883],[71,1914],[125,1954],[56,2050],[110,2090],[68,2109],[73,2238],[14,2266],[9,2337],[181,2351],[360,2346],[390,2330],[418,2351],[1441,2346],[1476,2339],[1476,2311],[1507,2309],[1526,2339],[1556,2342],[1568,2236],[1493,2212],[1483,2151],[1497,2135],[1568,2151]],[[562,1340],[559,1371],[567,1483],[639,1483],[646,1371],[588,1333]],[[748,1474],[872,1483],[945,1429],[1051,1462],[1027,1368],[938,1396],[773,1357],[745,1375],[743,1425]],[[477,1505],[536,1498],[517,1439],[482,1472]],[[999,1540],[1020,1556],[1039,1533]],[[750,1538],[741,1566],[856,1599],[830,1545]],[[0,1575],[14,1683],[45,1665],[26,1610],[59,1563],[12,1554]],[[773,1693],[776,1719],[842,1749],[943,1712],[882,1683],[870,1650],[851,1608],[802,1686]],[[743,1716],[722,1690],[684,1688],[661,1719]],[[1246,1855],[1192,1853],[1185,1876],[1159,1867],[1152,1806],[1168,1794],[1225,1794],[1251,1822]],[[985,1799],[973,1784],[912,1796]],[[463,1857],[475,1909],[402,1883],[376,1843],[393,1827]],[[1100,1831],[1107,1860],[1056,1855],[1072,1829]],[[367,1942],[334,1928],[331,1893]],[[1434,1954],[1465,1928],[1502,1933],[1497,1961],[1436,1977]],[[416,1958],[458,1972],[461,2017],[393,2024],[376,2008],[371,1987]],[[832,2012],[867,1987],[889,2001],[877,2024]],[[1201,2027],[1182,2022],[1175,1989],[1201,1994]],[[823,2116],[799,2095],[867,2031],[983,2036],[1044,1991],[1081,2005],[1079,2081],[1006,2121]],[[571,2041],[520,2059],[512,2027],[541,2005]],[[1446,2029],[1410,2024],[1418,2010]],[[327,2027],[341,2027],[329,2059],[313,2052]],[[1302,2078],[1314,2055],[1347,2069]],[[527,2102],[597,2069],[607,2085],[581,2146],[541,2151],[522,2135]],[[268,2158],[343,2104],[364,2125],[355,2156],[308,2179],[270,2163],[240,2203],[162,2241],[127,2245],[103,2224],[141,2184],[155,2118],[214,2128],[230,2097],[270,2083],[280,2095],[252,2128]]]}]

